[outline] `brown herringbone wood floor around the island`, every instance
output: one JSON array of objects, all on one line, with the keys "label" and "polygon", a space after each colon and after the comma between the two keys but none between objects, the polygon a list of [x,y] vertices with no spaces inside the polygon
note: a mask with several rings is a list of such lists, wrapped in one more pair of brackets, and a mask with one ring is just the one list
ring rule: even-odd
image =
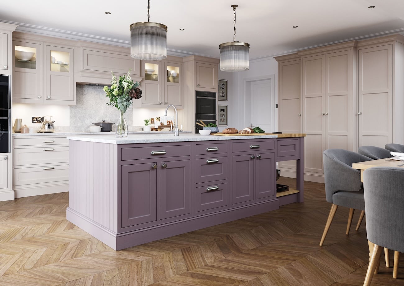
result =
[{"label": "brown herringbone wood floor around the island", "polygon": [[[324,184],[305,182],[304,203],[120,251],[68,222],[67,205],[68,193],[0,202],[1,286],[353,286],[367,269],[365,223],[345,235],[345,208],[318,246]],[[404,260],[395,280],[381,259],[372,285],[404,285]]]}]

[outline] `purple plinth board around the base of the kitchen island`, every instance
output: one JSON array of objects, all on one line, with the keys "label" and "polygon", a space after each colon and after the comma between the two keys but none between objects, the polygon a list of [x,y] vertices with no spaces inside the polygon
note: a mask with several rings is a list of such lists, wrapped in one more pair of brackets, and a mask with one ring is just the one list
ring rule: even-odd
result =
[{"label": "purple plinth board around the base of the kitchen island", "polygon": [[213,225],[219,225],[232,220],[278,209],[279,201],[278,199],[273,199],[271,201],[256,203],[254,205],[247,205],[213,214],[187,218],[177,222],[169,222],[164,225],[128,231],[126,233],[114,233],[113,231],[106,229],[105,227],[97,224],[95,221],[90,220],[71,208],[66,209],[66,219],[93,237],[99,239],[112,249],[121,250],[158,239],[203,229],[205,227],[211,227]]}]

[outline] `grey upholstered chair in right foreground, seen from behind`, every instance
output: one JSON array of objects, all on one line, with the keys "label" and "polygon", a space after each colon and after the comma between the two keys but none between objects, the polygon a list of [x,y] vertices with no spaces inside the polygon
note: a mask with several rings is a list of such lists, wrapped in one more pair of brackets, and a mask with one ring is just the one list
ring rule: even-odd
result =
[{"label": "grey upholstered chair in right foreground, seen from behind", "polygon": [[394,250],[393,278],[404,252],[404,168],[372,167],[364,171],[366,233],[375,244],[363,285],[370,285],[384,248]]}]

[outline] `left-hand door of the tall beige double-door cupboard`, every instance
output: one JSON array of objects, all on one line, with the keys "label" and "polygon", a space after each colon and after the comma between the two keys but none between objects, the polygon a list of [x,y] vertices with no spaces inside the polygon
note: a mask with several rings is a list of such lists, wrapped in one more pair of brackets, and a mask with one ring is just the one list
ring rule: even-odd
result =
[{"label": "left-hand door of the tall beige double-door cupboard", "polygon": [[322,173],[325,146],[325,55],[302,59],[302,132],[305,172]]}]

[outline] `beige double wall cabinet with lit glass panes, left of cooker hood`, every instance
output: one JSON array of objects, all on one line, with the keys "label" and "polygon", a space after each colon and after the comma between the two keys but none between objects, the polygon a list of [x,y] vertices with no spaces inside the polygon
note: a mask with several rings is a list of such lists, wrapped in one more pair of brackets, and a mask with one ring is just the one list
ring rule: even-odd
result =
[{"label": "beige double wall cabinet with lit glass panes, left of cooker hood", "polygon": [[[76,104],[75,47],[56,38],[15,33],[13,102]],[[33,53],[19,59],[16,51]]]}]

